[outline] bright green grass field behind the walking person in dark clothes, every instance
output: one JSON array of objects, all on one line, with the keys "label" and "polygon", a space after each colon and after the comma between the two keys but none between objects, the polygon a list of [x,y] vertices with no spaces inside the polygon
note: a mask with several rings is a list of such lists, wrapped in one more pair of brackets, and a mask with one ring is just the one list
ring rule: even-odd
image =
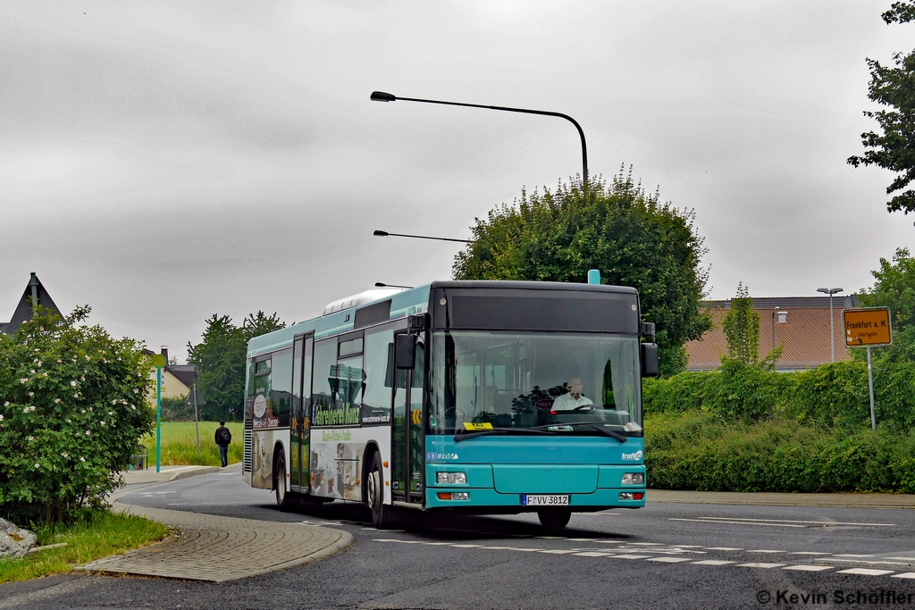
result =
[{"label": "bright green grass field behind the walking person in dark clothes", "polygon": [[[197,433],[193,422],[162,424],[162,466],[220,466],[220,448],[213,442],[219,422],[200,422],[200,455],[197,455]],[[243,424],[226,423],[231,432],[229,464],[242,461],[244,453]],[[149,463],[156,465],[156,433],[144,436],[140,444],[149,449]]]}]

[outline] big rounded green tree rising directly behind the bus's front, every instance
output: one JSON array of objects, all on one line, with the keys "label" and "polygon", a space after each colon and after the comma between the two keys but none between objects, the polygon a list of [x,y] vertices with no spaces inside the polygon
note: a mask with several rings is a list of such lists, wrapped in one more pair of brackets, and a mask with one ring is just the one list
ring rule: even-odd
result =
[{"label": "big rounded green tree rising directly behind the bus's front", "polygon": [[458,280],[601,282],[639,290],[645,320],[656,323],[664,373],[684,369],[684,344],[711,327],[699,309],[708,273],[694,213],[646,195],[631,173],[560,184],[503,204],[477,219],[473,240],[458,253]]}]

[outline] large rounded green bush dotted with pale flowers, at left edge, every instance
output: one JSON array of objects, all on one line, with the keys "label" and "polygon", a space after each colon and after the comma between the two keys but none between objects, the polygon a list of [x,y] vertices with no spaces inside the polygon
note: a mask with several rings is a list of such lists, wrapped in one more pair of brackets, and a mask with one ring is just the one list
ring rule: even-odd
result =
[{"label": "large rounded green bush dotted with pale flowers, at left edge", "polygon": [[38,307],[14,337],[0,335],[0,517],[57,520],[101,506],[155,423],[127,400],[150,383],[142,346],[86,326],[89,311],[61,319]]}]

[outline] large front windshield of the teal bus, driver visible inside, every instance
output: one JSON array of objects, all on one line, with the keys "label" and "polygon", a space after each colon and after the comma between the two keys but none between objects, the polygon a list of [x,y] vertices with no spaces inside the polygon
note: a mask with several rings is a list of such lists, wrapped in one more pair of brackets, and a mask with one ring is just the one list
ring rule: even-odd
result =
[{"label": "large front windshield of the teal bus, driver visible inside", "polygon": [[428,432],[596,433],[597,423],[640,436],[638,353],[632,336],[434,331]]}]

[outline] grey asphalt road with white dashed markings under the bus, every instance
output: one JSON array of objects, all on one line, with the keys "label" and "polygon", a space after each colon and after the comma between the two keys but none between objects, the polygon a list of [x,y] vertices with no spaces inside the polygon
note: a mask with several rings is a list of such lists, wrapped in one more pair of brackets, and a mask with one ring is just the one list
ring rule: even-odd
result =
[{"label": "grey asphalt road with white dashed markings under the bus", "polygon": [[[524,515],[377,531],[365,508],[340,502],[280,512],[272,494],[237,473],[137,488],[122,501],[328,525],[350,531],[356,544],[230,583],[68,575],[5,584],[0,608],[915,607],[915,580],[894,577],[915,573],[915,510],[650,502],[573,516],[558,533]],[[39,596],[3,601],[27,592]],[[804,603],[805,595],[813,597]]]}]

